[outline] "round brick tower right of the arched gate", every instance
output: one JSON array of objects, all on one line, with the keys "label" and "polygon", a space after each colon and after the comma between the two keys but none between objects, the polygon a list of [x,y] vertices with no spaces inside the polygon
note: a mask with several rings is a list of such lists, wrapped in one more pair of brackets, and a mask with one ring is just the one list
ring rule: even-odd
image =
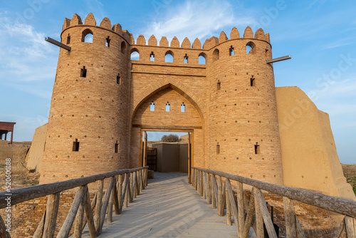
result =
[{"label": "round brick tower right of the arched gate", "polygon": [[269,35],[250,27],[209,50],[209,167],[283,185],[270,58]]}]

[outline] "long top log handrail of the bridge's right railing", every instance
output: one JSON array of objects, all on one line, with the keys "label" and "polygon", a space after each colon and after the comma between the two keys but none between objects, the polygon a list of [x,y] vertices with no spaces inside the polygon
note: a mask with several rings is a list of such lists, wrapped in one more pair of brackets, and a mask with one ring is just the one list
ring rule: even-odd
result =
[{"label": "long top log handrail of the bridge's right railing", "polygon": [[248,177],[241,177],[239,175],[231,175],[227,172],[220,172],[216,170],[208,170],[199,167],[192,167],[193,169],[208,172],[209,174],[219,175],[226,177],[229,180],[242,182],[246,185],[257,187],[260,190],[267,192],[273,192],[276,195],[288,197],[299,202],[304,202],[308,205],[327,209],[331,212],[337,212],[339,214],[347,215],[349,217],[356,218],[356,202],[352,200],[346,200],[340,197],[332,197],[329,195],[323,195],[316,192],[310,192],[307,190],[301,190],[295,187],[286,187],[282,185],[274,185],[268,182],[262,182],[253,180]]}]

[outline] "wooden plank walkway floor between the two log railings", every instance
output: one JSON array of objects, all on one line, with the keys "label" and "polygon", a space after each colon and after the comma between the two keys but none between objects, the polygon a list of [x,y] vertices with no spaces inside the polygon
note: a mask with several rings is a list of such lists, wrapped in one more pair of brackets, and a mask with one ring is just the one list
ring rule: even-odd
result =
[{"label": "wooden plank walkway floor between the two log railings", "polygon": [[[251,229],[252,230],[252,229]],[[181,172],[155,172],[147,188],[105,222],[99,237],[237,237],[236,227],[219,217]],[[90,237],[88,228],[83,238]],[[254,234],[253,234],[254,237]]]}]

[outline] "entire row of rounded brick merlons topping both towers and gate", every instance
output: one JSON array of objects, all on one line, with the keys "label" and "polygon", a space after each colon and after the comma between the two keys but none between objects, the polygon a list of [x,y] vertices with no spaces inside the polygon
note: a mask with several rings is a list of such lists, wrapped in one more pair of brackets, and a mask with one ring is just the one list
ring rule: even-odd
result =
[{"label": "entire row of rounded brick merlons topping both towers and gate", "polygon": [[[137,46],[158,46],[157,45],[157,38],[152,35],[150,36],[150,39],[147,41],[145,39],[145,36],[140,35],[137,37],[137,40],[135,41],[135,38],[132,36],[131,33],[127,30],[122,30],[122,27],[120,24],[114,24],[113,26],[111,25],[110,19],[105,17],[103,21],[101,21],[100,26],[96,25],[96,21],[94,18],[94,15],[92,13],[88,14],[88,16],[84,20],[84,24],[80,16],[77,14],[74,14],[72,19],[65,19],[63,28],[62,28],[62,33],[66,29],[73,27],[73,26],[96,26],[100,27],[103,29],[107,29],[109,31],[113,31],[130,43],[131,46],[137,45]],[[211,38],[207,38],[206,41],[203,44],[203,47],[201,48],[201,42],[199,41],[199,38],[196,38],[194,40],[194,43],[192,44],[191,41],[189,41],[189,38],[184,38],[182,45],[179,43],[179,40],[176,36],[172,39],[170,46],[169,46],[169,41],[165,36],[162,36],[161,40],[159,41],[159,46],[161,47],[172,47],[172,48],[192,48],[192,49],[203,49],[203,50],[210,50],[211,48],[214,48],[215,46],[218,46],[220,43],[223,43],[225,41],[229,40],[234,40],[240,38],[240,33],[234,27],[231,30],[230,33],[230,39],[226,36],[226,33],[224,31],[221,31],[219,38],[216,36],[212,36]],[[263,29],[258,29],[254,36],[253,36],[253,31],[250,26],[247,26],[245,31],[244,31],[244,36],[241,38],[246,38],[246,39],[251,39],[251,40],[260,40],[260,41],[266,41],[271,45],[270,41],[270,36],[269,33],[264,33]]]}]

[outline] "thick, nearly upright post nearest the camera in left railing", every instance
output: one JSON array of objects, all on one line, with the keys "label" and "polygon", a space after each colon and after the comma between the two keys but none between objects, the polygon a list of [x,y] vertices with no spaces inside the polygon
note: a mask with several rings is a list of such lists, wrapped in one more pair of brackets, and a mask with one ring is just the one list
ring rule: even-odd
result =
[{"label": "thick, nearly upright post nearest the camera in left railing", "polygon": [[60,192],[48,195],[46,219],[43,227],[43,237],[53,237],[56,229],[56,220],[59,207]]}]

